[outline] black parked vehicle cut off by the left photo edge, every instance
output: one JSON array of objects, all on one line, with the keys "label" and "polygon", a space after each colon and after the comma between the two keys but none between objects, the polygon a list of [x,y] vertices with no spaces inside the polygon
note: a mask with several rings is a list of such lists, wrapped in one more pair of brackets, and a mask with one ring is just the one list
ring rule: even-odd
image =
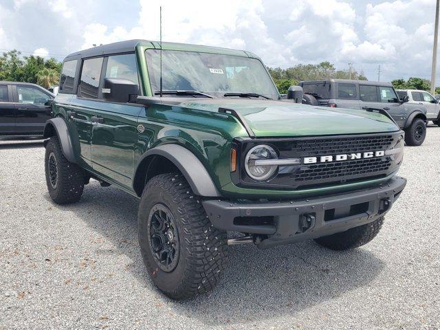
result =
[{"label": "black parked vehicle cut off by the left photo edge", "polygon": [[0,81],[0,137],[43,135],[54,98],[39,85]]}]

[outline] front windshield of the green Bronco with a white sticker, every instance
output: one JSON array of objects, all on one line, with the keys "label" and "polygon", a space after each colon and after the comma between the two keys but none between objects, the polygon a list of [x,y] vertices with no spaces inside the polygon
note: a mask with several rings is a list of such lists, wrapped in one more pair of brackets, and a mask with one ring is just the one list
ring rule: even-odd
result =
[{"label": "front windshield of the green Bronco with a white sticker", "polygon": [[[160,51],[146,50],[153,94],[159,91]],[[241,56],[201,52],[162,51],[163,91],[201,91],[223,97],[226,93],[261,94],[278,98],[261,61]]]}]

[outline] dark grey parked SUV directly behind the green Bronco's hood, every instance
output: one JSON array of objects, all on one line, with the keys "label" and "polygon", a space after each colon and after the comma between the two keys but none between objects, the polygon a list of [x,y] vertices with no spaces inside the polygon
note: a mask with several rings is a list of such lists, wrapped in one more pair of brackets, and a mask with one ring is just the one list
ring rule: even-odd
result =
[{"label": "dark grey parked SUV directly behind the green Bronco's hood", "polygon": [[330,79],[302,81],[306,104],[356,110],[385,110],[405,131],[408,146],[419,146],[426,136],[426,107],[401,100],[390,83]]}]

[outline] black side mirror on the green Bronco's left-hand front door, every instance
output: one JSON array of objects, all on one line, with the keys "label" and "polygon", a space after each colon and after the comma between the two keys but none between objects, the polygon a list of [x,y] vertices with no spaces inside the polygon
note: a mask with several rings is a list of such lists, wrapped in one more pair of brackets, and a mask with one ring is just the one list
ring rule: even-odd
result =
[{"label": "black side mirror on the green Bronco's left-hand front door", "polygon": [[105,78],[102,97],[110,102],[134,102],[139,94],[139,86],[122,78]]}]

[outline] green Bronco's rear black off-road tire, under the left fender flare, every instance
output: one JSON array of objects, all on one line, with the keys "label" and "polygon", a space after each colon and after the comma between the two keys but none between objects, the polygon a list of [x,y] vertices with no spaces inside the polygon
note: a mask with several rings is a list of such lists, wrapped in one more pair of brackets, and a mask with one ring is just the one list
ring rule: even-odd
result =
[{"label": "green Bronco's rear black off-road tire, under the left fender flare", "polygon": [[[56,184],[51,183],[50,161],[52,166],[54,164],[52,157],[55,159]],[[79,201],[81,195],[83,195],[85,172],[83,168],[66,159],[56,136],[52,136],[46,144],[44,164],[50,198],[57,204]]]}]

